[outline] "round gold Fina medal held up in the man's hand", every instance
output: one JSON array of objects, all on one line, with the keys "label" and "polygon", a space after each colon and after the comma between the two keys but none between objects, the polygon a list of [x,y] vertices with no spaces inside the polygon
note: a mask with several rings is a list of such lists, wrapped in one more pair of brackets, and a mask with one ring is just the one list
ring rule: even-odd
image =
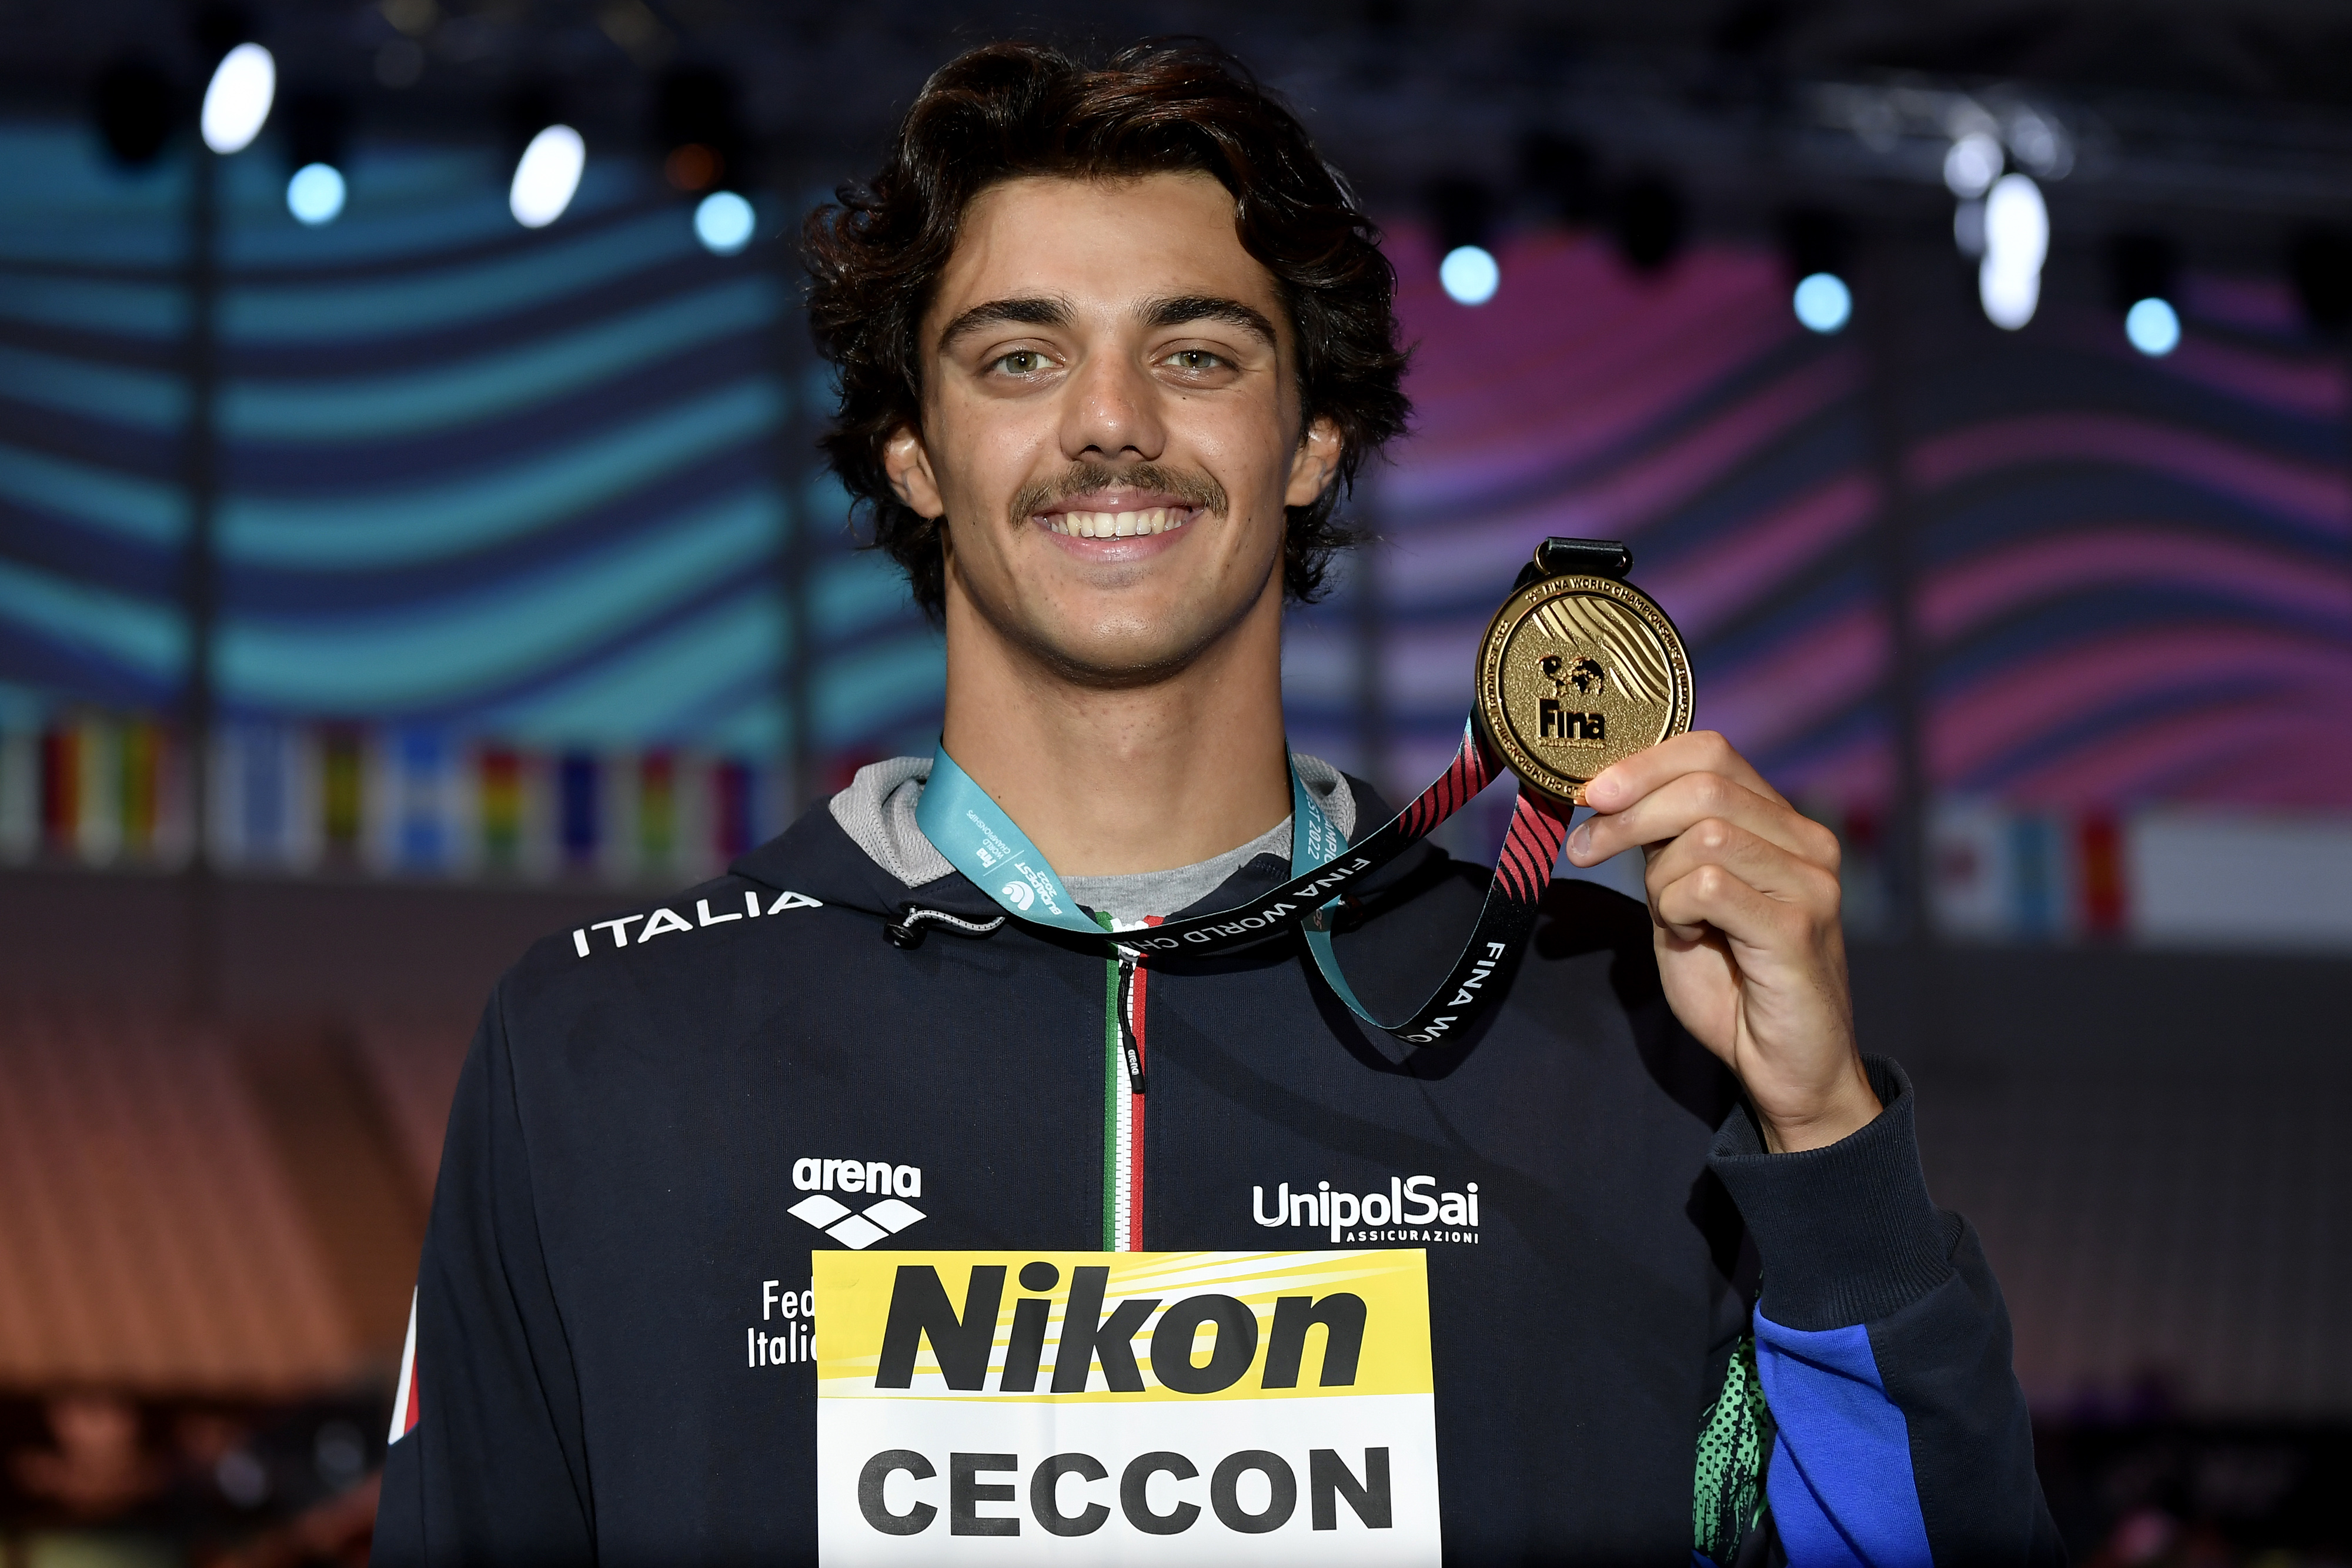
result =
[{"label": "round gold Fina medal held up in the man's hand", "polygon": [[1545,576],[1486,625],[1475,712],[1522,783],[1573,806],[1611,762],[1691,729],[1691,656],[1632,583]]}]

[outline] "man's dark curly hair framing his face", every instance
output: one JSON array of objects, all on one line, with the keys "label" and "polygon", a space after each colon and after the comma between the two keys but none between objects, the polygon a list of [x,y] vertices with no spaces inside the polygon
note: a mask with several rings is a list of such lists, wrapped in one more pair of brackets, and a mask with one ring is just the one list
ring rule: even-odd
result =
[{"label": "man's dark curly hair framing his face", "polygon": [[[981,190],[1025,174],[1120,179],[1204,172],[1232,193],[1242,249],[1272,275],[1291,317],[1303,425],[1341,433],[1338,482],[1289,508],[1282,585],[1322,592],[1331,552],[1352,543],[1338,501],[1364,454],[1404,430],[1397,275],[1381,230],[1305,127],[1249,71],[1200,40],[1152,40],[1103,66],[1040,45],[985,45],[943,66],[906,110],[882,172],[809,214],[809,324],[833,362],[840,409],[823,449],[833,473],[934,621],[946,607],[938,527],[889,487],[882,454],[922,423],[922,315]],[[1301,425],[1301,428],[1303,428]]]}]

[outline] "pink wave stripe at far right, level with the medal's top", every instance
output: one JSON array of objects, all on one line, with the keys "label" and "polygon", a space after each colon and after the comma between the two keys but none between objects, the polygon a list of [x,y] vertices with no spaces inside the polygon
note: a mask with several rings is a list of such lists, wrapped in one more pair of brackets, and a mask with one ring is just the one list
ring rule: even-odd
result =
[{"label": "pink wave stripe at far right, level with the medal's top", "polygon": [[1931,644],[1955,642],[2025,604],[2112,583],[2232,590],[2279,611],[2343,616],[2352,625],[2352,576],[2312,571],[2310,562],[2253,543],[2122,524],[1938,569],[1919,592],[1919,630]]}]

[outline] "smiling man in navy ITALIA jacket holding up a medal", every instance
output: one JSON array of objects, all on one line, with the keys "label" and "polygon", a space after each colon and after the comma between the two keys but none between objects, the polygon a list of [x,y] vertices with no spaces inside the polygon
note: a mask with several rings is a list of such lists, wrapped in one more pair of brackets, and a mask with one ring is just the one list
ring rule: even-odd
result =
[{"label": "smiling man in navy ITALIA jacket holding up a medal", "polygon": [[[1136,969],[924,832],[953,762],[974,820],[993,802],[1080,905],[1138,929],[1284,882],[1294,802],[1357,842],[1385,818],[1282,736],[1284,599],[1317,588],[1345,482],[1406,411],[1388,263],[1296,120],[1200,47],[1101,71],[976,49],[809,252],[833,463],[946,625],[941,757],[866,769],[727,877],[499,985],[449,1124],[383,1561],[809,1561],[821,1533],[901,1561],[1251,1540],[1348,1561],[1312,1554],[1369,1559],[1414,1509],[1458,1563],[2051,1559],[1999,1291],[1929,1204],[1907,1081],[1853,1041],[1835,842],[1719,736],[1590,785],[1569,856],[1642,846],[1649,910],[1555,884],[1501,1004],[1418,1048],[1359,1027],[1296,931]],[[1418,849],[1355,898],[1336,952],[1374,1011],[1446,973],[1484,884]],[[804,1319],[830,1321],[842,1248],[1000,1251],[1070,1342],[1108,1265],[1077,1305],[1025,1251],[1312,1267],[1399,1237],[1397,1267],[1425,1267],[1406,1338],[1432,1495],[1404,1448],[1284,1458],[1249,1403],[1131,1406],[1152,1448],[1131,1462],[818,1453]],[[936,1300],[891,1298],[894,1387],[917,1352],[950,1389],[1035,1387],[1040,1340],[1016,1382],[1021,1319],[993,1340],[981,1305],[1004,1267],[969,1293],[908,1279]],[[1324,1312],[1319,1387],[1348,1385],[1334,1298],[1296,1300]],[[1101,1319],[1101,1368],[1082,1352],[1063,1385],[1058,1361],[1054,1389],[1150,1392],[1145,1312]],[[1211,1366],[1256,1321],[1216,1333]],[[1183,1382],[1183,1345],[1152,1345]],[[1256,1354],[1232,1387],[1298,1387]],[[1240,1422],[1218,1441],[1254,1443],[1228,1465],[1256,1455],[1263,1507],[1152,1436],[1200,1413]],[[837,1462],[854,1483],[821,1481]],[[1028,1507],[990,1479],[1021,1467]]]}]

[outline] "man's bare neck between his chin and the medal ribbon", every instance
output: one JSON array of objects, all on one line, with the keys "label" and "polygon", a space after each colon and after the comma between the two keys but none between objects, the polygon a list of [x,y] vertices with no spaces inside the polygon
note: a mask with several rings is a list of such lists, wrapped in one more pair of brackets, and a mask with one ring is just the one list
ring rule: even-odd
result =
[{"label": "man's bare neck between his chin and the medal ribbon", "polygon": [[1195,865],[1291,811],[1282,592],[1183,670],[1091,684],[948,595],[948,755],[1063,877]]}]

